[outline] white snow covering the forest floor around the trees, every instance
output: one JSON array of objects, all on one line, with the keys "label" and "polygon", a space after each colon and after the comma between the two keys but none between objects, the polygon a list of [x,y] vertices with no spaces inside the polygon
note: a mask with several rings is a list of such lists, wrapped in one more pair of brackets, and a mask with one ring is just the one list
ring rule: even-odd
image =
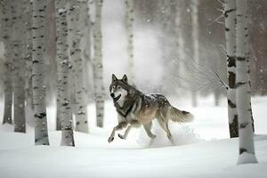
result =
[{"label": "white snow covering the forest floor around the trees", "polygon": [[[55,109],[47,109],[51,146],[34,146],[34,130],[13,133],[11,125],[0,126],[0,177],[266,177],[267,174],[267,97],[252,101],[255,117],[255,152],[260,164],[236,166],[238,139],[228,138],[227,108],[213,99],[199,101],[191,108],[186,101],[170,100],[195,115],[187,125],[172,124],[176,146],[172,146],[155,122],[157,138],[152,146],[143,129],[134,129],[127,140],[118,137],[108,143],[111,129],[117,124],[111,101],[106,103],[105,127],[96,128],[93,105],[88,107],[90,134],[75,133],[75,148],[61,147],[61,132],[54,131]],[[0,104],[1,108],[3,102]],[[3,116],[0,110],[0,116]]]}]

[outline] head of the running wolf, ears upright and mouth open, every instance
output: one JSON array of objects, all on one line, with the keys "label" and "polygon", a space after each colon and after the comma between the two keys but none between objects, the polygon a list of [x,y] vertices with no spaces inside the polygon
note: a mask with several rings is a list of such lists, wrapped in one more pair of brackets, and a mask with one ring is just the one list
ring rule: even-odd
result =
[{"label": "head of the running wolf, ears upright and mouth open", "polygon": [[117,79],[117,77],[112,74],[112,82],[109,86],[109,92],[114,102],[118,102],[122,105],[130,88],[131,86],[128,84],[128,77],[126,75],[124,75],[122,79]]}]

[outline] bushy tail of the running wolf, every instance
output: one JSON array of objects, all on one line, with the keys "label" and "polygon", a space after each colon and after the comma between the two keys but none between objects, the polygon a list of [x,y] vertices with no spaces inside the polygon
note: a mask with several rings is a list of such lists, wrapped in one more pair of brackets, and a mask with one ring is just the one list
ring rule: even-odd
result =
[{"label": "bushy tail of the running wolf", "polygon": [[194,119],[194,116],[187,111],[175,109],[174,107],[171,107],[170,109],[171,114],[171,120],[174,122],[191,122]]}]

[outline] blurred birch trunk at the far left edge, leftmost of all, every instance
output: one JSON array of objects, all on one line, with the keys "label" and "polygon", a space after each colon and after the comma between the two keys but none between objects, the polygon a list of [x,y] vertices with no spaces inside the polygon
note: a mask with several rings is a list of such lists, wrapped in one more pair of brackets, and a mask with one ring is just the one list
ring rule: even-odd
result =
[{"label": "blurred birch trunk at the far left edge, leftmost of all", "polygon": [[12,49],[11,49],[11,13],[10,2],[1,1],[1,38],[4,42],[4,119],[3,124],[12,124]]}]

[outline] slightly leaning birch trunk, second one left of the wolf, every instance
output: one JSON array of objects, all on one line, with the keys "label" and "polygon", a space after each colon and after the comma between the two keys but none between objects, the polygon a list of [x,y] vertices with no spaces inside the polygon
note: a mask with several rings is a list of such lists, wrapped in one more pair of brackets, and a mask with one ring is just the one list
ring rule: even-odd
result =
[{"label": "slightly leaning birch trunk, second one left of the wolf", "polygon": [[69,28],[69,53],[74,78],[74,114],[76,118],[76,131],[88,133],[85,86],[83,77],[83,59],[81,53],[81,37],[79,20],[80,6],[77,0],[69,0],[68,28]]}]

